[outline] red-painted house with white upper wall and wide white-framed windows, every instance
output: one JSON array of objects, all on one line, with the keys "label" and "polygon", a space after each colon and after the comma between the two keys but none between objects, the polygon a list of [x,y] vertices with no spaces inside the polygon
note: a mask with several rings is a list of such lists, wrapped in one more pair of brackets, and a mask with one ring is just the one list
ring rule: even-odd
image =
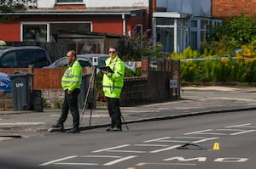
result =
[{"label": "red-painted house with white upper wall and wide white-framed windows", "polygon": [[[148,0],[38,0],[35,8],[0,13],[11,20],[0,23],[0,39],[6,42],[90,42],[96,34],[123,36],[143,33],[150,26]],[[89,49],[87,52],[90,52]],[[100,53],[103,52],[101,49]]]}]

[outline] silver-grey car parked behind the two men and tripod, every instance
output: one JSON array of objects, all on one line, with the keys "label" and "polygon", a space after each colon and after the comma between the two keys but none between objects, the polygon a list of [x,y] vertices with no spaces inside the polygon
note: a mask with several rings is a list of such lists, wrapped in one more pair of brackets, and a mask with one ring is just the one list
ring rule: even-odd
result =
[{"label": "silver-grey car parked behind the two men and tripod", "polygon": [[[92,67],[92,58],[98,58],[99,67],[105,66],[105,60],[108,59],[108,54],[78,54],[77,59],[82,67]],[[67,66],[67,57],[57,59],[54,63],[45,68],[61,68]],[[135,70],[135,67],[125,64],[125,67],[131,70]]]}]

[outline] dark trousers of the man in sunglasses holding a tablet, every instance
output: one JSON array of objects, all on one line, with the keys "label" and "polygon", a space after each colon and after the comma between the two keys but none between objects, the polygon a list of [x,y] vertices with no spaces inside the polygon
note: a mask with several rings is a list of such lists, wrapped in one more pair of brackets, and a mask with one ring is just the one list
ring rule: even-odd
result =
[{"label": "dark trousers of the man in sunglasses holding a tablet", "polygon": [[121,111],[119,107],[119,99],[116,98],[107,98],[108,102],[108,113],[111,118],[111,126],[110,127],[122,127],[121,121]]}]

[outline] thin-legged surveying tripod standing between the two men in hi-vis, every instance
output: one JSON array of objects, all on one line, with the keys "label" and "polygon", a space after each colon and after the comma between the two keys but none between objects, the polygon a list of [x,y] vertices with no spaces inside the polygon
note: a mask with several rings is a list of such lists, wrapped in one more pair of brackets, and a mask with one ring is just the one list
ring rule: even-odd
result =
[{"label": "thin-legged surveying tripod standing between the two men in hi-vis", "polygon": [[[86,108],[86,104],[88,104],[88,98],[89,98],[89,93],[90,93],[90,88],[92,87],[92,92],[90,93],[90,97],[91,97],[91,105],[90,105],[90,121],[89,121],[89,127],[91,125],[91,115],[92,115],[92,109],[94,107],[94,105],[96,105],[96,65],[94,66],[94,69],[92,71],[92,74],[91,74],[91,78],[90,78],[90,82],[89,82],[89,86],[88,86],[88,89],[87,89],[87,93],[86,93],[86,96],[85,96],[85,99],[84,99],[84,106],[83,106],[83,113],[81,115],[81,120],[80,120],[80,124],[82,123],[83,121],[83,116],[84,116],[84,111],[85,111],[85,108]],[[121,114],[121,118],[122,120],[124,121],[124,124],[125,124],[125,127],[127,130],[129,130],[129,127],[128,125],[126,124],[125,122],[125,118],[124,116]]]}]

